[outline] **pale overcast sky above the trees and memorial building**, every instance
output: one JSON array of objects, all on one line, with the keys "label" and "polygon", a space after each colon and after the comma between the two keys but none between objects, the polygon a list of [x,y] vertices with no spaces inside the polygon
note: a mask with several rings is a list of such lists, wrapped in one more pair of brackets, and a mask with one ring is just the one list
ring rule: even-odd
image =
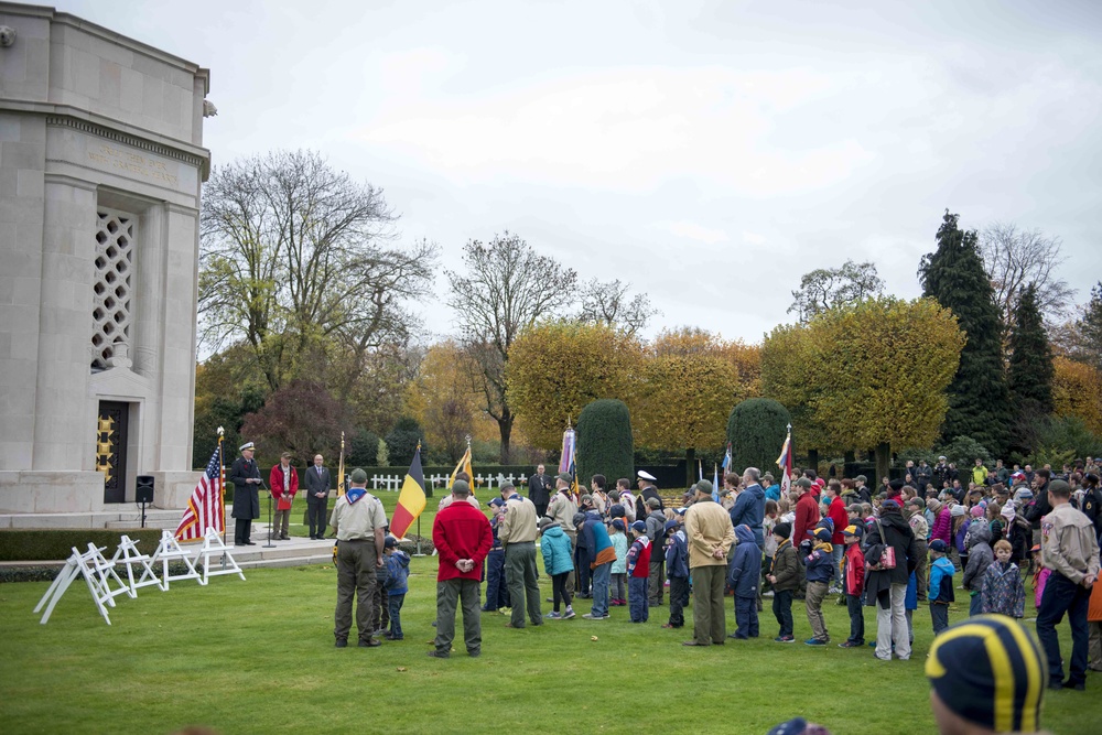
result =
[{"label": "pale overcast sky above the trees and memorial building", "polygon": [[[1062,238],[1080,303],[1102,275],[1094,0],[58,10],[210,68],[216,165],[316,149],[382,187],[444,267],[508,229],[646,290],[650,335],[759,342],[802,273],[847,258],[917,296],[947,207]],[[436,303],[421,312],[444,334]]]}]

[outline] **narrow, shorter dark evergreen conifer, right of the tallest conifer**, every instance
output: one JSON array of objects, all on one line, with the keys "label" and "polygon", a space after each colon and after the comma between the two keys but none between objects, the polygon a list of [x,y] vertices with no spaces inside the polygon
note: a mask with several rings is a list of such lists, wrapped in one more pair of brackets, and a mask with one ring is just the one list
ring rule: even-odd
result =
[{"label": "narrow, shorter dark evergreen conifer, right of the tallest conifer", "polygon": [[1054,411],[1052,349],[1037,305],[1037,288],[1030,283],[1018,299],[1011,331],[1011,359],[1006,383],[1014,411],[1014,448],[1035,448],[1028,440],[1038,425]]}]

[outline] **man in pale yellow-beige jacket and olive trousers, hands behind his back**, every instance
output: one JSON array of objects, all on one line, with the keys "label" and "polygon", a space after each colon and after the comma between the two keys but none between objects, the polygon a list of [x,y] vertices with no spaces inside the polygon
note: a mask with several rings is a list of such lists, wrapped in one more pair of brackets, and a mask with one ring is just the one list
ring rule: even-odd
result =
[{"label": "man in pale yellow-beige jacket and olive trousers, hands behind his back", "polygon": [[685,511],[689,571],[692,573],[693,639],[682,646],[722,646],[727,637],[723,609],[723,585],[727,576],[727,551],[735,542],[731,516],[712,499],[712,483],[693,486],[695,501]]}]

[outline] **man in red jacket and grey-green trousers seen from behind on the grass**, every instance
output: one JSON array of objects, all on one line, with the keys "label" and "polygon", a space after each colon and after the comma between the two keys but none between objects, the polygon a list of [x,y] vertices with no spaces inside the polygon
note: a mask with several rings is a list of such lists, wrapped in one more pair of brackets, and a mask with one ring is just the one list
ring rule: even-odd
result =
[{"label": "man in red jacket and grey-green trousers seen from behind on the grass", "polygon": [[482,653],[482,610],[478,580],[482,563],[494,545],[494,531],[483,511],[466,501],[471,487],[462,479],[452,485],[453,502],[436,514],[432,543],[440,558],[436,571],[436,640],[429,656],[446,659],[455,637],[455,604],[463,605],[463,638],[469,656]]}]

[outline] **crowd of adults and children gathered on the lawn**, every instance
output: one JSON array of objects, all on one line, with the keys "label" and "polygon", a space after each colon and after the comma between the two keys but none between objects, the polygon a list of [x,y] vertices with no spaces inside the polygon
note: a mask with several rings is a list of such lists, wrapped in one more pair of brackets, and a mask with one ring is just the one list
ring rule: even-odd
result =
[{"label": "crowd of adults and children gathered on the lawn", "polygon": [[[256,477],[251,447],[242,450],[245,466],[233,474]],[[284,473],[281,462],[272,479],[290,491]],[[452,655],[457,608],[466,651],[477,657],[483,613],[501,612],[509,616],[505,627],[519,629],[570,620],[581,599],[590,602],[582,618],[606,620],[611,607],[623,606],[633,624],[668,604],[662,627],[672,629],[685,626],[691,601],[692,637],[682,645],[710,647],[758,638],[758,614],[770,598],[774,641],[796,642],[792,605],[802,598],[803,642],[828,646],[822,608],[836,594],[850,616],[840,648],[867,644],[879,660],[907,660],[914,612],[925,603],[936,636],[926,673],[941,732],[1034,732],[1041,690],[1082,691],[1087,671],[1102,671],[1102,585],[1094,584],[1102,537],[1099,467],[1090,457],[1060,473],[1002,462],[987,469],[976,460],[963,480],[961,475],[941,457],[933,467],[908,463],[903,479],[885,478],[875,489],[861,475],[824,480],[812,469],[782,488],[771,474],[748,467],[726,474],[722,488],[702,479],[671,501],[642,471],[634,488],[627,478],[609,487],[594,475],[580,495],[572,476],[552,478],[541,466],[529,480],[534,497],[506,483],[486,504],[487,517],[469,478],[458,473],[432,530],[439,566],[429,656]],[[332,517],[338,648],[348,645],[354,598],[360,647],[379,646],[383,634],[403,637],[409,556],[387,534],[382,504],[366,483],[363,469],[353,471]],[[279,495],[280,484],[271,485]],[[551,580],[545,601],[539,558]],[[1036,637],[1017,621],[1026,615],[1027,587]],[[726,596],[734,608],[730,634]],[[966,597],[969,617],[951,626],[958,597]],[[544,602],[552,606],[547,615]],[[875,608],[875,636],[867,641],[866,607]],[[1065,617],[1072,638],[1067,660],[1056,631]],[[1014,672],[1009,680],[1007,670]],[[797,718],[774,732],[825,729]]]}]

